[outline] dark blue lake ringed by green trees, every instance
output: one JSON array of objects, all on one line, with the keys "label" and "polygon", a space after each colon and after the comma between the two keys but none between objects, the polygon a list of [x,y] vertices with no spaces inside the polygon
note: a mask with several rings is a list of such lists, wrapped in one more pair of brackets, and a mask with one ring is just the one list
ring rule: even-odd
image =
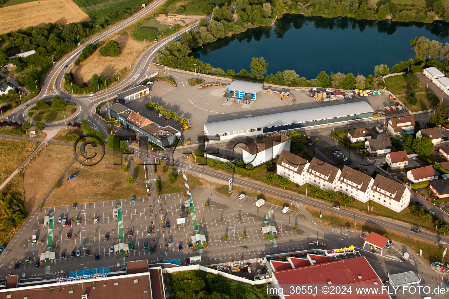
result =
[{"label": "dark blue lake ringed by green trees", "polygon": [[285,15],[271,27],[258,27],[194,49],[194,56],[213,67],[250,71],[252,57],[263,56],[267,73],[294,69],[315,78],[324,70],[363,74],[374,66],[413,58],[410,40],[416,36],[449,42],[449,24],[366,21],[352,18]]}]

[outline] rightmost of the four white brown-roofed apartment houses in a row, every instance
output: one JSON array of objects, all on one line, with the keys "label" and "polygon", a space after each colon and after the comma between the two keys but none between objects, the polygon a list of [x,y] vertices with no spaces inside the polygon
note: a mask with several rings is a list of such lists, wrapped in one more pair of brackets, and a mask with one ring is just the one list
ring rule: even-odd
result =
[{"label": "rightmost of the four white brown-roofed apartment houses in a row", "polygon": [[371,200],[401,212],[410,203],[410,191],[406,186],[378,174],[371,187]]}]

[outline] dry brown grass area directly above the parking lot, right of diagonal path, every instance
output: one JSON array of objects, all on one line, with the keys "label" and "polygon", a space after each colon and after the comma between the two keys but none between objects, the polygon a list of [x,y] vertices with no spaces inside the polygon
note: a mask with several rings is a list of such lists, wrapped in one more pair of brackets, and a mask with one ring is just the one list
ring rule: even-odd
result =
[{"label": "dry brown grass area directly above the parking lot, right of diagonal path", "polygon": [[[93,166],[73,165],[61,182],[45,202],[45,207],[57,207],[77,202],[93,203],[113,199],[146,196],[145,184],[128,182],[129,172],[123,172],[123,165],[114,165],[117,157],[105,154],[100,163]],[[71,175],[78,176],[67,181]],[[54,182],[53,182],[54,184]]]}]

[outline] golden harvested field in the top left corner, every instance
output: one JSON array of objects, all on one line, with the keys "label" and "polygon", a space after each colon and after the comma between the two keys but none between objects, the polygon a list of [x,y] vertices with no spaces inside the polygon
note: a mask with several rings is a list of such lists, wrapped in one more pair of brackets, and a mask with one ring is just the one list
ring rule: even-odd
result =
[{"label": "golden harvested field in the top left corner", "polygon": [[44,23],[68,24],[90,18],[72,0],[40,0],[0,8],[0,34]]}]

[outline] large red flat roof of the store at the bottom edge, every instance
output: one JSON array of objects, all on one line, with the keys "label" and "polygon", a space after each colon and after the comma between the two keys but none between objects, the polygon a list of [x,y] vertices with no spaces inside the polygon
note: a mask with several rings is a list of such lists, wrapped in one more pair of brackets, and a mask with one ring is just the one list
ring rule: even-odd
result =
[{"label": "large red flat roof of the store at the bottom edge", "polygon": [[[273,273],[273,283],[279,285],[377,285],[383,283],[364,256],[357,256],[343,260],[329,261],[295,269],[287,269]],[[313,297],[289,296],[288,298]],[[353,294],[352,294],[353,295]],[[279,296],[285,299],[286,296]],[[391,298],[387,294],[370,296],[332,296],[332,298]]]}]

